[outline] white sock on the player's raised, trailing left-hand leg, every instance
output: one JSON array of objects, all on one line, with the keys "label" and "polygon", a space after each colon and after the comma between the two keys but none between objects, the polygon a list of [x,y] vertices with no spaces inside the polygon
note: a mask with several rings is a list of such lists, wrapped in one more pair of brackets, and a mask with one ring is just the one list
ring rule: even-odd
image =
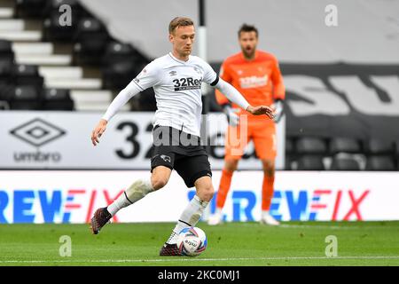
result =
[{"label": "white sock on the player's raised, trailing left-hand leg", "polygon": [[108,212],[113,216],[121,210],[136,201],[139,201],[148,193],[153,192],[153,185],[150,178],[138,179],[129,186],[121,195],[107,207]]}]

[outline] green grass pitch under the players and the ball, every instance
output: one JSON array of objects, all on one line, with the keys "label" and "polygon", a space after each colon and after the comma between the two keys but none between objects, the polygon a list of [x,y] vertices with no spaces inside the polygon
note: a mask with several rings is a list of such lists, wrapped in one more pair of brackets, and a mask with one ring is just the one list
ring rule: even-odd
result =
[{"label": "green grass pitch under the players and the ball", "polygon": [[[254,222],[198,226],[208,246],[197,257],[159,256],[172,223],[0,225],[0,265],[399,265],[399,222]],[[59,238],[71,237],[72,256],[61,257]],[[325,256],[336,236],[338,256]]]}]

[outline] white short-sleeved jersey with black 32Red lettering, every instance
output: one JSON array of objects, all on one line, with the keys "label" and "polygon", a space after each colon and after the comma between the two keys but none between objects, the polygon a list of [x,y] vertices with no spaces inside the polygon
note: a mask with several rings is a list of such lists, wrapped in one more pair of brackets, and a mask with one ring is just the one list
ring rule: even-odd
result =
[{"label": "white short-sleeved jersey with black 32Red lettering", "polygon": [[154,125],[171,126],[200,136],[201,83],[218,82],[207,62],[197,56],[183,61],[169,52],[154,59],[132,82],[140,91],[153,87],[158,108]]}]

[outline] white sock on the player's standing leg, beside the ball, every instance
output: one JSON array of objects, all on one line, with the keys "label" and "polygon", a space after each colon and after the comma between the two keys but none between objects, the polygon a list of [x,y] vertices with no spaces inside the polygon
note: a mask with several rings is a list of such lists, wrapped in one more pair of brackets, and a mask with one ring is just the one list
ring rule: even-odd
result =
[{"label": "white sock on the player's standing leg, beside the ball", "polygon": [[192,201],[190,201],[177,221],[175,229],[173,229],[173,232],[170,235],[167,243],[176,243],[178,233],[180,233],[180,231],[182,231],[184,228],[197,225],[198,221],[200,221],[202,213],[204,213],[204,210],[207,208],[208,203],[209,202],[207,201],[201,201],[200,197],[194,195]]}]

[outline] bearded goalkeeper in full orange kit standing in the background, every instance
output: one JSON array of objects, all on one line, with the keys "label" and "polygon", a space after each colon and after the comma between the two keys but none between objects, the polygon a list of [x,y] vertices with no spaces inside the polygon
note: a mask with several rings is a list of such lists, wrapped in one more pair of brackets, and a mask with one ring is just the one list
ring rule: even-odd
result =
[{"label": "bearded goalkeeper in full orange kit standing in the background", "polygon": [[[257,43],[258,30],[244,24],[239,29],[241,52],[224,60],[220,77],[239,90],[251,105],[273,107],[275,120],[278,120],[282,115],[282,100],[285,99],[278,60],[270,53],[256,50]],[[216,211],[209,217],[208,224],[217,225],[223,221],[222,209],[231,186],[231,177],[234,170],[237,170],[247,143],[252,139],[263,168],[261,222],[279,225],[269,213],[277,154],[275,122],[263,116],[246,115],[242,108],[231,105],[220,91],[215,91],[215,95],[227,115],[229,128],[226,133],[224,168],[216,196]]]}]

